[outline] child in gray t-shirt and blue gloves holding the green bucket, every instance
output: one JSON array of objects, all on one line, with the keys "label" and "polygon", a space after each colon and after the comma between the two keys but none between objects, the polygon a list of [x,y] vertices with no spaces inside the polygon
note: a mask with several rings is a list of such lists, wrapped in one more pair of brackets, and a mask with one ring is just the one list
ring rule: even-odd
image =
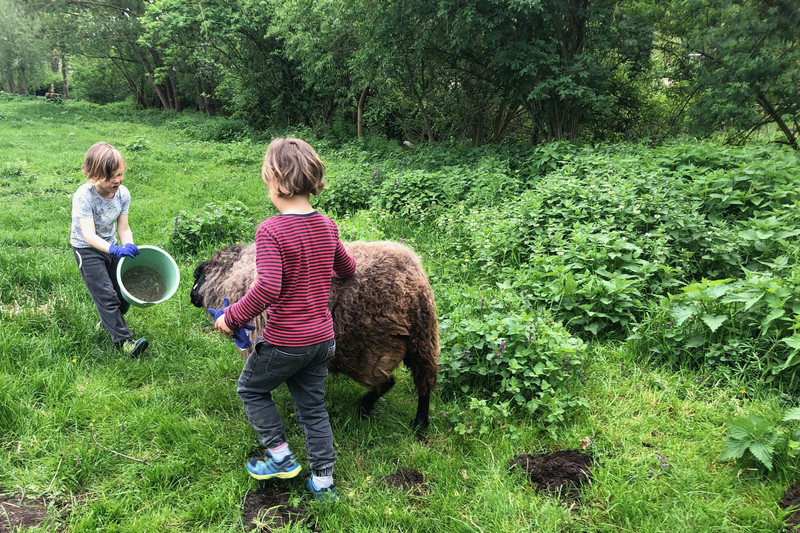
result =
[{"label": "child in gray t-shirt and blue gloves holding the green bucket", "polygon": [[100,324],[111,334],[114,344],[136,357],[147,349],[148,342],[134,340],[128,329],[123,315],[130,304],[122,296],[116,275],[121,258],[139,255],[128,225],[131,194],[122,185],[125,160],[116,148],[99,142],[89,148],[81,170],[89,181],[72,196],[72,250],[81,278],[100,313]]}]

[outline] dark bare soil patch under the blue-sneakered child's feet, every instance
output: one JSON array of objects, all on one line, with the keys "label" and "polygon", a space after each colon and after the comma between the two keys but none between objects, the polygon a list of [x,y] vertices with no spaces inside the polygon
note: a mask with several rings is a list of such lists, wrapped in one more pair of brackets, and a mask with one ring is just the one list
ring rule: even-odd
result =
[{"label": "dark bare soil patch under the blue-sneakered child's feet", "polygon": [[289,494],[284,487],[266,484],[248,493],[242,505],[245,531],[268,533],[289,522],[305,520],[306,513],[302,508],[289,505]]}]

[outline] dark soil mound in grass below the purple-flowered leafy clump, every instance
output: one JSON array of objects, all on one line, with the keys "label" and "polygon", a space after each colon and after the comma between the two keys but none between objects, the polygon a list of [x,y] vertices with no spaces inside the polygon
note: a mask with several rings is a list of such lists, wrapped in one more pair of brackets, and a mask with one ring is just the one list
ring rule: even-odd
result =
[{"label": "dark soil mound in grass below the purple-flowered leafy clump", "polygon": [[542,493],[577,500],[580,488],[591,481],[592,458],[578,450],[564,450],[545,455],[517,455],[508,463],[510,471],[522,471]]}]

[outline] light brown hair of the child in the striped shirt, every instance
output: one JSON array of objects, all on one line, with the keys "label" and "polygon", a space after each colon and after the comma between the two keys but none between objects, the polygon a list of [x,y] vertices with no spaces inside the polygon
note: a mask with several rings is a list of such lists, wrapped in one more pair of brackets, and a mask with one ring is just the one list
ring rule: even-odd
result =
[{"label": "light brown hair of the child in the striped shirt", "polygon": [[325,188],[325,165],[302,139],[279,137],[269,143],[261,177],[281,198],[319,194]]}]

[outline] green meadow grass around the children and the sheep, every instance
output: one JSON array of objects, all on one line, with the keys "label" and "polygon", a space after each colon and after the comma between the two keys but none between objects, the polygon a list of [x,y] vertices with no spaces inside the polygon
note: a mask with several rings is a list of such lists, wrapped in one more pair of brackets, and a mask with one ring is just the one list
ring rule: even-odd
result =
[{"label": "green meadow grass around the children and the sheep", "polygon": [[[0,103],[0,494],[53,502],[62,531],[241,531],[243,499],[259,487],[243,467],[256,441],[235,391],[241,359],[188,299],[194,265],[208,250],[176,256],[181,285],[169,302],[129,313],[134,331],[151,339],[138,360],[94,331],[97,313],[70,253],[70,196],[84,181],[86,149],[99,140],[126,158],[137,243],[166,246],[177,213],[211,201],[272,213],[260,179],[266,144],[196,141],[176,117]],[[332,174],[350,168],[341,152],[320,151]],[[348,224],[376,236],[368,219],[360,213]],[[437,253],[435,233],[389,229],[412,239],[437,291],[469,284],[469,268]],[[366,420],[356,411],[363,391],[333,376],[340,500],[318,504],[301,482],[286,482],[309,524],[285,530],[781,531],[786,482],[717,461],[726,419],[778,417],[785,405],[777,394],[642,366],[619,344],[592,347],[579,386],[590,407],[555,437],[524,418],[516,439],[502,428],[459,435],[447,418],[458,406],[434,396],[429,440],[420,442],[408,427],[416,398],[407,371]],[[276,401],[304,458],[288,392]],[[103,449],[92,432],[147,464]],[[578,448],[585,436],[593,438],[594,482],[580,505],[540,495],[508,472],[517,454]],[[428,490],[387,487],[382,478],[400,468],[422,472]]]}]

